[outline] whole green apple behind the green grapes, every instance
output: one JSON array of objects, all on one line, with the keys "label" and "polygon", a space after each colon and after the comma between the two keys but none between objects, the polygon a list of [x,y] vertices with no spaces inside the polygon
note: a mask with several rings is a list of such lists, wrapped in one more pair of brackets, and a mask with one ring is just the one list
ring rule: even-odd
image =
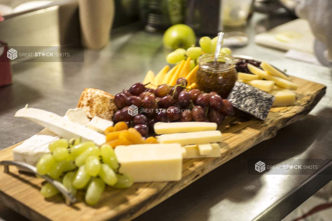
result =
[{"label": "whole green apple behind the green grapes", "polygon": [[177,24],[169,27],[163,36],[163,43],[166,47],[189,48],[196,44],[196,35],[192,28],[184,24]]}]

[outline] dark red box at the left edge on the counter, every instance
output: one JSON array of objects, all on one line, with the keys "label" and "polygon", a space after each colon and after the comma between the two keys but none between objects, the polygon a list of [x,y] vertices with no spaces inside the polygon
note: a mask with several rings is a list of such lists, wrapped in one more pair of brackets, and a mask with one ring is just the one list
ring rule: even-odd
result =
[{"label": "dark red box at the left edge on the counter", "polygon": [[0,41],[0,86],[12,83],[10,59],[7,57],[8,45]]}]

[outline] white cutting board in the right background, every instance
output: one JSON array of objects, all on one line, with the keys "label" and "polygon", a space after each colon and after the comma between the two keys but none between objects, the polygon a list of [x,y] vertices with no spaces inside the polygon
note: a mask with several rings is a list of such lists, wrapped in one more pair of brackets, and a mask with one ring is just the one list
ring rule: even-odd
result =
[{"label": "white cutting board in the right background", "polygon": [[[302,37],[292,42],[283,42],[276,38],[280,31],[296,31],[302,33]],[[291,22],[282,24],[268,31],[255,35],[255,43],[263,46],[273,47],[288,51],[290,49],[314,54],[313,43],[315,37],[312,34],[308,21],[295,19]]]}]

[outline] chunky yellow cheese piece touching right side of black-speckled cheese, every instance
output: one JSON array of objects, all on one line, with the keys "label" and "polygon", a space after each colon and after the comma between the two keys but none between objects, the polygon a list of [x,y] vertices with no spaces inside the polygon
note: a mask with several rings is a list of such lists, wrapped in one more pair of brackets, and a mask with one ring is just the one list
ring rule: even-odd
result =
[{"label": "chunky yellow cheese piece touching right side of black-speckled cheese", "polygon": [[286,106],[295,104],[296,94],[291,90],[275,86],[269,93],[276,97],[272,106]]}]

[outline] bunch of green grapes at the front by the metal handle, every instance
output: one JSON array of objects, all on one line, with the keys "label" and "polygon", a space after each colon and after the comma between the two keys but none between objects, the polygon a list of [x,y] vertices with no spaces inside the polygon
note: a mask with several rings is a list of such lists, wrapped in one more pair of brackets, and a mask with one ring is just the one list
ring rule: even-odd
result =
[{"label": "bunch of green grapes at the front by the metal handle", "polygon": [[[37,162],[37,172],[47,174],[62,184],[72,194],[86,190],[85,202],[98,202],[105,185],[128,188],[133,184],[131,176],[119,174],[119,163],[113,148],[108,144],[97,147],[93,142],[80,139],[53,141],[48,146],[51,153],[44,154]],[[41,188],[44,197],[51,197],[59,191],[47,183]]]}]

